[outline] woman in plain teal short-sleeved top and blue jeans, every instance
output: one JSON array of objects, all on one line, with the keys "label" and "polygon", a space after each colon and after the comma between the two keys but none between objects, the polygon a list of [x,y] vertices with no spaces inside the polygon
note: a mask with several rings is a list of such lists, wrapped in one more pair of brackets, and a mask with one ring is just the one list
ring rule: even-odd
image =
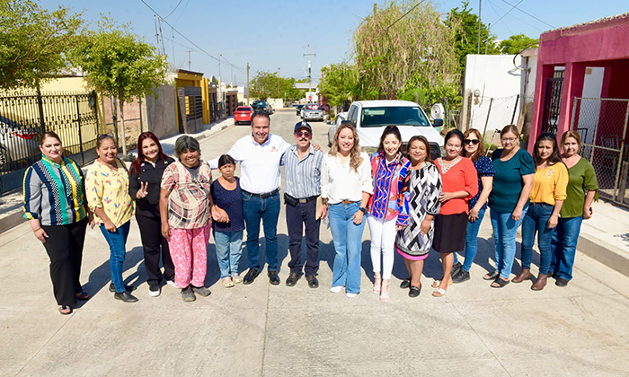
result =
[{"label": "woman in plain teal short-sleeved top and blue jeans", "polygon": [[516,232],[527,212],[528,194],[533,186],[535,165],[527,151],[519,147],[518,127],[505,126],[501,130],[502,149],[492,153],[492,193],[489,195],[496,270],[483,276],[492,280],[493,288],[509,284],[511,267],[516,255]]}]

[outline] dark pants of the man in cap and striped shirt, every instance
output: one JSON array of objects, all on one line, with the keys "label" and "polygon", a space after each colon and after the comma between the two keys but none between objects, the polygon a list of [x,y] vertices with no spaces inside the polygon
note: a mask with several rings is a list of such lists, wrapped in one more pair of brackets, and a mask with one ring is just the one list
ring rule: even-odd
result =
[{"label": "dark pants of the man in cap and striped shirt", "polygon": [[319,220],[316,220],[316,200],[308,203],[286,205],[286,224],[288,227],[288,250],[290,251],[290,272],[301,274],[304,267],[301,262],[301,238],[306,225],[306,275],[315,275],[319,264]]}]

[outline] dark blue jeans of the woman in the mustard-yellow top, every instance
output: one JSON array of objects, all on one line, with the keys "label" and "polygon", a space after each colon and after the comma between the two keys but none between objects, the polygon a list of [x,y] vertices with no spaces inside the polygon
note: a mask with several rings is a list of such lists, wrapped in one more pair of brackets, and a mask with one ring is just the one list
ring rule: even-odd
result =
[{"label": "dark blue jeans of the woman in the mustard-yellow top", "polygon": [[554,206],[546,203],[531,203],[528,206],[527,215],[522,220],[522,268],[531,267],[533,259],[533,245],[537,232],[537,247],[541,256],[539,260],[539,273],[548,274],[551,263],[551,241],[554,228],[548,228],[548,219],[553,214]]}]

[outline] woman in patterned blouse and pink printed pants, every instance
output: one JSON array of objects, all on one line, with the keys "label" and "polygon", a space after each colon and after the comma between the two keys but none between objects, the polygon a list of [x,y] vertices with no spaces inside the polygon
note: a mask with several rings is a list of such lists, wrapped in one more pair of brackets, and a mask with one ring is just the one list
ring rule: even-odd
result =
[{"label": "woman in patterned blouse and pink printed pants", "polygon": [[181,136],[174,153],[179,161],[170,164],[162,177],[159,199],[162,235],[168,240],[174,264],[174,285],[182,289],[182,300],[192,302],[196,294],[207,297],[208,240],[211,230],[210,188],[212,172],[199,159],[197,139]]}]

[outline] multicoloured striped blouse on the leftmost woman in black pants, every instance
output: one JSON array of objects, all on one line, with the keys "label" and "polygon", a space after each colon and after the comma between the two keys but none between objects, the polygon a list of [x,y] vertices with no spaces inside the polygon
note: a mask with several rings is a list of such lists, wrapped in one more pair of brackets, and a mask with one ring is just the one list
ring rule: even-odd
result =
[{"label": "multicoloured striped blouse on the leftmost woman in black pants", "polygon": [[83,171],[62,157],[61,164],[46,157],[24,172],[24,218],[42,225],[66,225],[87,216]]}]

